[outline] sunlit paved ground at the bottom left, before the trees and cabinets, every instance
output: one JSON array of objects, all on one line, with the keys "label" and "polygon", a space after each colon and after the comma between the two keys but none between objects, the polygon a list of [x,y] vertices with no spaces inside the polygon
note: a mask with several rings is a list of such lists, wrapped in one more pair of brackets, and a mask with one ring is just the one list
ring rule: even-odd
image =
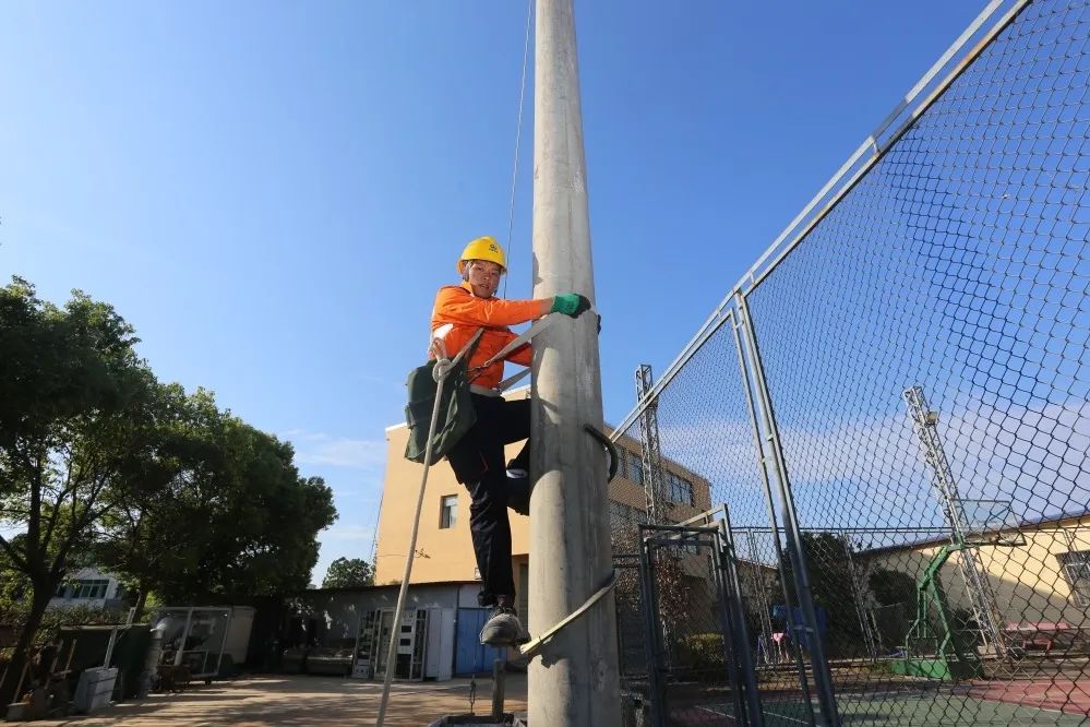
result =
[{"label": "sunlit paved ground at the bottom left, before the trees and cabinets", "polygon": [[[470,681],[395,682],[386,725],[419,727],[444,715],[469,713]],[[260,676],[193,683],[178,694],[112,704],[89,716],[40,720],[37,725],[79,727],[211,727],[212,725],[373,725],[382,684],[337,677]],[[507,675],[505,711],[526,712],[526,676]],[[474,712],[492,710],[492,680],[477,680]]]}]

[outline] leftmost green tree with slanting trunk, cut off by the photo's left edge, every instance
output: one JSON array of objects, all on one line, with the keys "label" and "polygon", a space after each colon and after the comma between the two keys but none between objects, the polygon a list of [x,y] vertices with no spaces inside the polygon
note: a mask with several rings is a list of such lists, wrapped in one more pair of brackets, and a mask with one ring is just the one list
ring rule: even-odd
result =
[{"label": "leftmost green tree with slanting trunk, cut off by the photo's left edge", "polygon": [[110,490],[155,489],[155,380],[132,327],[74,291],[63,309],[21,278],[0,288],[0,536],[29,583],[29,609],[0,704],[14,696],[27,647],[69,558],[85,550]]}]

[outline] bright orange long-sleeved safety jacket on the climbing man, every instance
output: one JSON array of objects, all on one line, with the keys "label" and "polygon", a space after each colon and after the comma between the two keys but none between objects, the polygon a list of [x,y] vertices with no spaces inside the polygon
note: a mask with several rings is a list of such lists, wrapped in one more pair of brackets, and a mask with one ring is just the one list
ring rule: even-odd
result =
[{"label": "bright orange long-sleeved safety jacket on the climbing man", "polygon": [[[478,298],[468,283],[446,285],[435,296],[435,307],[431,311],[432,338],[441,338],[446,353],[454,358],[463,346],[483,327],[477,350],[469,359],[472,369],[492,358],[518,336],[507,326],[526,323],[546,315],[552,308],[552,298],[532,300],[503,300],[495,296]],[[434,357],[434,354],[431,354]],[[523,344],[507,354],[507,360],[522,366],[530,365],[530,345]],[[494,389],[503,380],[503,360],[484,369],[471,381],[478,386]]]}]

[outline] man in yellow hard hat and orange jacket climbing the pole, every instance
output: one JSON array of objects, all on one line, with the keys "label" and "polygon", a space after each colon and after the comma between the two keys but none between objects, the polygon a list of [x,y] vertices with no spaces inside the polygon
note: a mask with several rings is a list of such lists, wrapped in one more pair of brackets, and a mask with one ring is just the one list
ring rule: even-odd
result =
[{"label": "man in yellow hard hat and orange jacket climbing the pole", "polygon": [[[529,438],[530,402],[507,401],[496,386],[503,379],[504,359],[530,365],[530,344],[483,365],[517,337],[507,326],[549,313],[578,318],[589,310],[590,301],[575,293],[531,300],[496,298],[506,258],[491,237],[470,241],[458,258],[457,269],[462,284],[444,286],[435,296],[430,355],[445,358],[469,346],[470,395],[477,421],[451,449],[447,462],[469,491],[469,529],[482,581],[477,597],[481,606],[492,609],[480,641],[512,646],[529,640],[515,609],[507,520],[508,506],[529,513],[529,442],[506,465],[503,446]],[[475,344],[478,331],[481,335]]]}]

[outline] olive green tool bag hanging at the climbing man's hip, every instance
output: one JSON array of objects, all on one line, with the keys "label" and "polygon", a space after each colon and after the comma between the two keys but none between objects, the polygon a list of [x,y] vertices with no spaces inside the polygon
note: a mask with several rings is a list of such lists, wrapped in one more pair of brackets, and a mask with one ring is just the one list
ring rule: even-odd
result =
[{"label": "olive green tool bag hanging at the climbing man's hip", "polygon": [[424,462],[428,453],[428,432],[431,431],[431,416],[435,410],[435,364],[432,359],[409,372],[406,386],[409,403],[405,406],[405,422],[409,427],[409,441],[405,445],[405,458],[432,465],[445,457],[466,432],[477,424],[477,413],[469,396],[469,358],[477,349],[483,329],[451,360],[451,367],[443,380],[439,410],[435,416],[435,433],[432,436],[431,462]]}]

